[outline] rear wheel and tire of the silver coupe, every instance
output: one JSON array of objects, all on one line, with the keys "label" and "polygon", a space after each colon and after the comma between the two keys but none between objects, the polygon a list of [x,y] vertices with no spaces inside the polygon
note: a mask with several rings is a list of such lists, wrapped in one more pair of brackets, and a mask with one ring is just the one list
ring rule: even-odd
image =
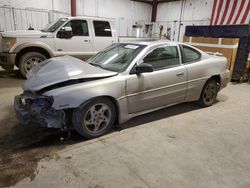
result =
[{"label": "rear wheel and tire of the silver coupe", "polygon": [[219,91],[218,83],[214,79],[209,79],[204,85],[198,104],[208,107],[215,103]]}]

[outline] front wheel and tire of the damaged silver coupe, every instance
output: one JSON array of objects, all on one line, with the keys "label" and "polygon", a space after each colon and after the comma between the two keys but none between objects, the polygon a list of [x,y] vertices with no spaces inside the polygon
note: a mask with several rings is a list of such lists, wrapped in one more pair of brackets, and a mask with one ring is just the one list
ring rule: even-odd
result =
[{"label": "front wheel and tire of the damaged silver coupe", "polygon": [[115,118],[116,109],[113,102],[107,98],[97,98],[75,109],[72,123],[83,137],[96,138],[112,129]]}]

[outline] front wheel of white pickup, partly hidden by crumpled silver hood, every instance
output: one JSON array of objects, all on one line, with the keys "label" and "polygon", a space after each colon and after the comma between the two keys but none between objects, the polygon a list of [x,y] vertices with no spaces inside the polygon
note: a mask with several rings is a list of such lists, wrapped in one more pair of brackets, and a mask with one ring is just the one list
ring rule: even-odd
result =
[{"label": "front wheel of white pickup, partly hidden by crumpled silver hood", "polygon": [[20,73],[26,78],[27,72],[29,72],[34,65],[41,63],[45,59],[46,57],[39,52],[28,52],[22,55],[19,61]]}]

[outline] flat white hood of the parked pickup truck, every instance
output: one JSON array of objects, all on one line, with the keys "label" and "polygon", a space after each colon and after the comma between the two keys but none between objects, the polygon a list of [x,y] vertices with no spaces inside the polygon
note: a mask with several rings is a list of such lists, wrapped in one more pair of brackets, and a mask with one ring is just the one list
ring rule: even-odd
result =
[{"label": "flat white hood of the parked pickup truck", "polygon": [[40,37],[47,37],[53,36],[52,33],[49,32],[42,32],[39,30],[17,30],[17,31],[5,31],[2,32],[3,37],[13,37],[13,38],[40,38]]}]

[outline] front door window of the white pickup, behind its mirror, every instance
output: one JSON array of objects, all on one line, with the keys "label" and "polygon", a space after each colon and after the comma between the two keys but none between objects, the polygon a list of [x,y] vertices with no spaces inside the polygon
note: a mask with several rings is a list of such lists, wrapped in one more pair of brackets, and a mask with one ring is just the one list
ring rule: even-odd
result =
[{"label": "front door window of the white pickup, behind its mirror", "polygon": [[64,27],[71,27],[73,36],[89,36],[86,20],[71,20]]}]

